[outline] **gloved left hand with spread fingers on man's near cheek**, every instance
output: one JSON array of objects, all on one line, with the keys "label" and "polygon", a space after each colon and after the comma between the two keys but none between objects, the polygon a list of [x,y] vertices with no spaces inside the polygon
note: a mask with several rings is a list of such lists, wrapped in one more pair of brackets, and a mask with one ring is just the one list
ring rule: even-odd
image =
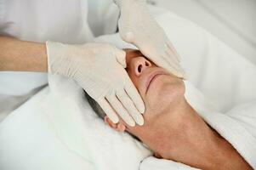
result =
[{"label": "gloved left hand with spread fingers on man's near cheek", "polygon": [[46,46],[49,73],[74,79],[112,122],[119,121],[118,114],[130,126],[144,123],[145,105],[124,69],[124,51],[106,43],[46,42]]}]

